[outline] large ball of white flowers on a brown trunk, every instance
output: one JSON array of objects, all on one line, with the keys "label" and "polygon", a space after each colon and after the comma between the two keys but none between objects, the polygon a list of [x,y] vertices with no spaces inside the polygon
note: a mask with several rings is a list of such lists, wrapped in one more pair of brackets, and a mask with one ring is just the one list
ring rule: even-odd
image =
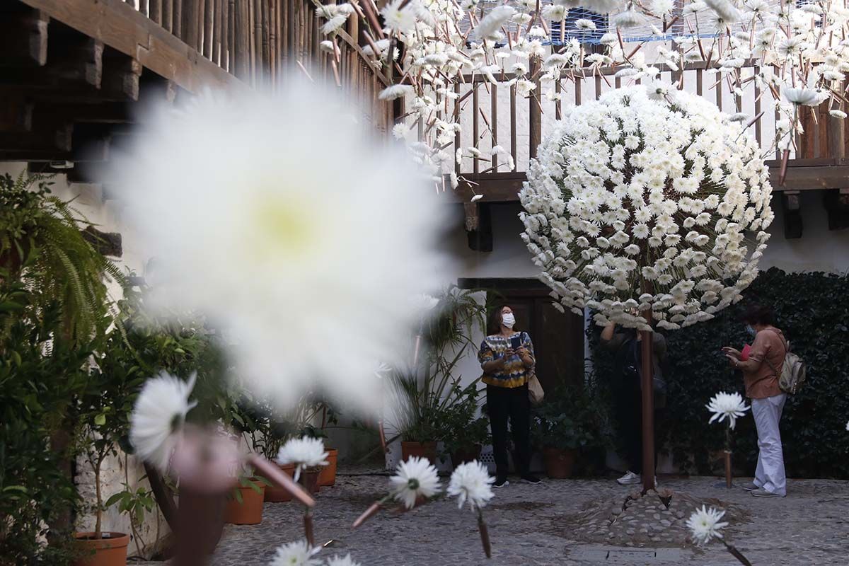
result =
[{"label": "large ball of white flowers on a brown trunk", "polygon": [[740,300],[773,221],[769,171],[744,124],[687,92],[621,88],[564,114],[520,191],[522,238],[556,308],[642,334],[649,490],[652,326],[687,327]]}]

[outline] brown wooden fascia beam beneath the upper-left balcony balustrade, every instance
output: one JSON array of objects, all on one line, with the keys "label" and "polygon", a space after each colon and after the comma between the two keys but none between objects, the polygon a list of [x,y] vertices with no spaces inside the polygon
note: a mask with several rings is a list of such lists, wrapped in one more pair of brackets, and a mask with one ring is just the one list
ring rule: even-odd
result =
[{"label": "brown wooden fascia beam beneath the upper-left balcony balustrade", "polygon": [[239,87],[239,81],[211,61],[200,58],[160,26],[115,0],[22,0],[55,20],[138,59],[145,68],[189,92],[211,87]]}]

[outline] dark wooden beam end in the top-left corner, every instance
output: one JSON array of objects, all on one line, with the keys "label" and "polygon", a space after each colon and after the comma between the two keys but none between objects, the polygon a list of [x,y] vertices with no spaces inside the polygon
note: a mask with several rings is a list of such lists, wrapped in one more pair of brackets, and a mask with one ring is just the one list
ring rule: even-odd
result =
[{"label": "dark wooden beam end in the top-left corner", "polygon": [[40,67],[48,60],[48,14],[19,3],[0,8],[0,67]]}]

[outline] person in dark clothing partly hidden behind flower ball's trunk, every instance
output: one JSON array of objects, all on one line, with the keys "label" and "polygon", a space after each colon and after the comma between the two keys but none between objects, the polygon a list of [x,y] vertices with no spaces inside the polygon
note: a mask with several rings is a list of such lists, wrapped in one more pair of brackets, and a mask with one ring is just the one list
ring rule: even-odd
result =
[{"label": "person in dark clothing partly hidden behind flower ball's trunk", "polygon": [[[666,362],[666,339],[653,332],[653,366],[655,369],[655,424],[661,420],[666,406],[663,365]],[[621,485],[639,484],[643,481],[643,393],[640,376],[643,367],[643,349],[640,333],[633,328],[616,328],[609,324],[601,333],[601,345],[613,352],[614,370],[611,379],[617,428],[625,446],[623,456],[627,472],[616,481]],[[655,461],[657,446],[655,445]],[[655,479],[655,484],[657,480]]]}]

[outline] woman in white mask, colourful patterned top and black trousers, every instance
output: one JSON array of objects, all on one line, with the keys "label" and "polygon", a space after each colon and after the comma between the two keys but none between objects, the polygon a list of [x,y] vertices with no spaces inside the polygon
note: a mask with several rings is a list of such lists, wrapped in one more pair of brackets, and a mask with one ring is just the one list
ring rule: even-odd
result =
[{"label": "woman in white mask, colourful patterned top and black trousers", "polygon": [[509,306],[492,311],[486,339],[481,342],[478,360],[486,384],[486,411],[492,430],[495,457],[493,487],[508,485],[507,424],[513,431],[516,446],[516,468],[521,479],[530,484],[540,480],[531,475],[531,401],[527,380],[534,365],[533,344],[526,332],[515,330],[516,319]]}]

